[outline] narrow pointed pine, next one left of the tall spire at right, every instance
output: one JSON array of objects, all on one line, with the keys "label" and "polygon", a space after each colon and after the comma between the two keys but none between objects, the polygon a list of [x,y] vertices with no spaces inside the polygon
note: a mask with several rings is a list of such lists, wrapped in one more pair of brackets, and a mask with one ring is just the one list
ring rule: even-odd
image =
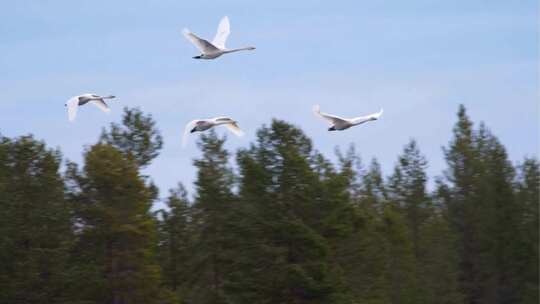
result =
[{"label": "narrow pointed pine, next one left of the tall spire at right", "polygon": [[389,197],[405,217],[412,238],[417,282],[415,302],[459,303],[457,260],[447,244],[452,233],[426,191],[426,168],[425,157],[416,141],[411,140],[389,179]]}]

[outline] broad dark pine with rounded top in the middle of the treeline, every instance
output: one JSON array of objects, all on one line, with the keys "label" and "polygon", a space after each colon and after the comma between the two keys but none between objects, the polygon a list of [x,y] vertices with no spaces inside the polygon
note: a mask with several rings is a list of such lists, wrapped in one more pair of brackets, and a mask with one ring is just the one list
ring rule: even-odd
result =
[{"label": "broad dark pine with rounded top in the middle of the treeline", "polygon": [[277,120],[258,131],[257,144],[242,151],[238,162],[241,210],[248,214],[243,222],[252,240],[240,265],[247,275],[236,277],[236,286],[246,286],[236,289],[239,301],[344,301],[341,275],[330,262],[330,238],[349,229],[333,218],[344,210],[343,181],[334,179],[299,129]]}]

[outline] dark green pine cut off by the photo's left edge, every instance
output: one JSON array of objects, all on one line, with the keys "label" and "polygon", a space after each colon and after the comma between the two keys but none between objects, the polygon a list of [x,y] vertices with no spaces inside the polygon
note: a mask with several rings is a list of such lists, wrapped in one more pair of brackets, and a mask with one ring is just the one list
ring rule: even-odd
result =
[{"label": "dark green pine cut off by the photo's left edge", "polygon": [[65,299],[73,234],[60,163],[32,136],[0,138],[0,303]]}]

